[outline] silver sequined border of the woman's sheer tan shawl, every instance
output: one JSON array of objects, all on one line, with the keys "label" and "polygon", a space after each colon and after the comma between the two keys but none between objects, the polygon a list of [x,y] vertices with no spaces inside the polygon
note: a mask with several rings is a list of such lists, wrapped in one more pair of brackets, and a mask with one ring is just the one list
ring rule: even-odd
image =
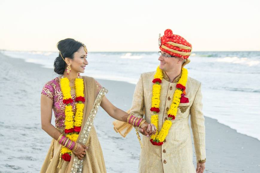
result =
[{"label": "silver sequined border of the woman's sheer tan shawl", "polygon": [[[101,91],[98,93],[98,96],[94,102],[93,108],[90,111],[89,117],[86,121],[86,125],[84,126],[83,133],[80,135],[80,140],[79,143],[85,145],[86,141],[89,137],[90,129],[94,123],[98,107],[102,101],[103,96],[107,94],[107,89],[104,87],[101,89]],[[83,160],[79,160],[77,157],[74,157],[73,163],[72,163],[72,168],[71,172],[82,172],[82,167],[83,167]]]}]

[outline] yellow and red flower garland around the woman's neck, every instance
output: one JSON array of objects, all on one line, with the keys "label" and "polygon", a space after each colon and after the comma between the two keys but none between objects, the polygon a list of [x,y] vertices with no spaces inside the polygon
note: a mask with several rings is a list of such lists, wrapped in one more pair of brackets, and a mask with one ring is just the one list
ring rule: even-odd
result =
[{"label": "yellow and red flower garland around the woman's neck", "polygon": [[[84,82],[83,79],[76,78],[75,79],[75,92],[76,92],[76,112],[73,118],[73,111],[72,105],[73,102],[71,96],[71,88],[69,86],[69,79],[64,77],[60,79],[60,88],[63,94],[63,103],[66,104],[65,106],[65,134],[70,140],[75,141],[78,138],[78,134],[81,129],[82,118],[83,118],[83,110],[84,110]],[[71,150],[66,147],[61,148],[62,158],[65,161],[70,161],[71,159]]]}]

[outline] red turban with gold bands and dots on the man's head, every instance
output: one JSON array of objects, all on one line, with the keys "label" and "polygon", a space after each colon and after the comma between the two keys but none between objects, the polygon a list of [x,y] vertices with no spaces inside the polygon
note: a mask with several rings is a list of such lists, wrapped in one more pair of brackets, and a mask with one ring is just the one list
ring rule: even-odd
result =
[{"label": "red turban with gold bands and dots on the man's head", "polygon": [[159,37],[160,49],[172,56],[188,59],[191,55],[191,44],[183,37],[174,35],[172,30],[164,31],[164,36]]}]

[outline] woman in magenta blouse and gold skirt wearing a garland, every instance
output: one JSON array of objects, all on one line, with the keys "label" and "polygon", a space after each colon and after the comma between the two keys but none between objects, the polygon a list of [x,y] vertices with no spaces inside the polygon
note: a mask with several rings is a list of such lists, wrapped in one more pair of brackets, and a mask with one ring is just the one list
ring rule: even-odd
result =
[{"label": "woman in magenta blouse and gold skirt wearing a garland", "polygon": [[[106,172],[93,126],[99,105],[114,119],[140,127],[147,136],[156,128],[116,108],[105,97],[107,89],[79,74],[88,65],[84,44],[64,39],[57,48],[54,71],[60,76],[47,82],[41,92],[42,129],[53,138],[41,172]],[[56,128],[51,124],[52,110]]]}]

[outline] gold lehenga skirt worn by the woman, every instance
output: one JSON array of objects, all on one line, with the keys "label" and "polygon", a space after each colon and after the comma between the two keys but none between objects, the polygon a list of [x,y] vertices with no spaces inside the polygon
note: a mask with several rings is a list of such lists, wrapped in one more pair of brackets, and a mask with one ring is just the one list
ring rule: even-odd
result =
[{"label": "gold lehenga skirt worn by the woman", "polygon": [[[64,134],[64,129],[60,129],[60,128],[57,129]],[[54,146],[54,148],[53,148],[53,158],[51,160],[52,146]],[[86,155],[83,157],[82,172],[83,173],[91,173],[91,172],[105,173],[106,172],[105,161],[104,161],[102,149],[98,141],[98,136],[94,126],[91,128],[88,140],[86,142],[86,146],[88,147],[88,149]],[[51,141],[51,146],[48,150],[47,156],[42,165],[41,173],[66,172],[69,162],[64,161],[63,159],[61,162],[62,163],[61,169],[57,169],[61,148],[62,145],[60,145],[57,142],[57,140],[53,139]]]}]

